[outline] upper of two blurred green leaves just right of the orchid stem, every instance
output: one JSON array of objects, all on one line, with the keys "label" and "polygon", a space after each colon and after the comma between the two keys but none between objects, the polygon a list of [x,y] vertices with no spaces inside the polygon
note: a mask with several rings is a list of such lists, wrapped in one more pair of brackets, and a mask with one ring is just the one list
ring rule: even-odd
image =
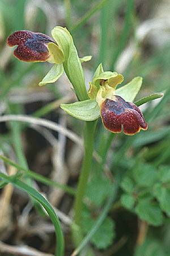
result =
[{"label": "upper of two blurred green leaves just right of the orchid stem", "polygon": [[106,177],[94,175],[87,184],[86,196],[99,207],[111,193],[111,189],[112,184]]}]

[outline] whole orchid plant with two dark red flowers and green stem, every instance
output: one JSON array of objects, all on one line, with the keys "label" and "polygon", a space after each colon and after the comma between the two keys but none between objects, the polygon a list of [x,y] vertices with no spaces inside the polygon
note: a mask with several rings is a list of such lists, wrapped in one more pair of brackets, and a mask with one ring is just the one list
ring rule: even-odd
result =
[{"label": "whole orchid plant with two dark red flowers and green stem", "polygon": [[80,172],[78,189],[75,197],[75,224],[81,225],[83,197],[86,192],[88,177],[91,170],[92,152],[94,147],[94,133],[96,121],[101,117],[104,127],[111,133],[124,132],[126,135],[134,135],[141,130],[147,130],[147,123],[139,105],[163,94],[152,94],[134,102],[142,85],[142,78],[135,77],[128,84],[117,89],[124,77],[117,72],[104,71],[102,64],[90,82],[90,88],[86,90],[83,61],[89,61],[91,56],[79,58],[74,46],[73,38],[69,31],[63,27],[54,27],[52,38],[47,35],[31,32],[16,31],[8,36],[8,46],[18,46],[14,55],[19,60],[31,62],[48,61],[53,66],[39,85],[56,82],[63,72],[66,73],[78,101],[72,104],[61,104],[61,108],[67,113],[86,121],[84,126],[84,159]]}]

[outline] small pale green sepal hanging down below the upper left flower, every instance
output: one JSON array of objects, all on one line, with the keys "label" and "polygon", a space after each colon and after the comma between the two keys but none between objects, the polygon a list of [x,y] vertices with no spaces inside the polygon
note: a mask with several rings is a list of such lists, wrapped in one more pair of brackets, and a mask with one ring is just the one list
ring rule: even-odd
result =
[{"label": "small pale green sepal hanging down below the upper left flower", "polygon": [[62,64],[54,64],[53,67],[50,69],[50,71],[46,74],[44,79],[42,79],[41,82],[39,82],[39,85],[45,85],[45,84],[51,84],[53,82],[56,82],[59,77],[61,77],[63,73],[63,65]]}]

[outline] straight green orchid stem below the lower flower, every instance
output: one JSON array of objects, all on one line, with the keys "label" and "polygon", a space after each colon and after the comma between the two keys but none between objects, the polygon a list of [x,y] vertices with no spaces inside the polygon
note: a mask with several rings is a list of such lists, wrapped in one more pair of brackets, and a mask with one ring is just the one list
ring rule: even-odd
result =
[{"label": "straight green orchid stem below the lower flower", "polygon": [[81,224],[83,197],[86,192],[87,181],[91,171],[92,153],[94,149],[94,131],[96,121],[86,122],[84,127],[84,159],[75,197],[75,224]]}]

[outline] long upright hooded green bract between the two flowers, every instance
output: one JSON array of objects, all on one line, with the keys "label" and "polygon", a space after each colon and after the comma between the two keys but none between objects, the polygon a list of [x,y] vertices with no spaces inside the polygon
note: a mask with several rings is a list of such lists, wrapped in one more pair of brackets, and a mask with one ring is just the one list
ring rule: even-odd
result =
[{"label": "long upright hooded green bract between the two flowers", "polygon": [[82,64],[80,63],[72,36],[66,28],[59,26],[53,28],[52,36],[64,53],[65,61],[63,67],[67,77],[74,87],[76,96],[80,101],[87,100],[88,95]]}]

